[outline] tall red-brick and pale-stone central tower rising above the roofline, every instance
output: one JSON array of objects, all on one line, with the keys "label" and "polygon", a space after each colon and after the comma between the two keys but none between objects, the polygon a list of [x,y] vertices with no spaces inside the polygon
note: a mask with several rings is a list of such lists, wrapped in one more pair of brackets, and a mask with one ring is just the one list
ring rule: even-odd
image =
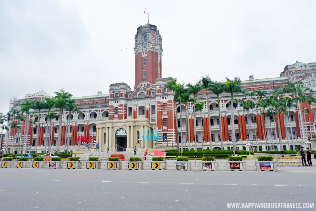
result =
[{"label": "tall red-brick and pale-stone central tower rising above the roofline", "polygon": [[136,87],[143,84],[155,84],[156,79],[162,77],[161,41],[161,35],[155,25],[148,22],[137,28],[134,47]]}]

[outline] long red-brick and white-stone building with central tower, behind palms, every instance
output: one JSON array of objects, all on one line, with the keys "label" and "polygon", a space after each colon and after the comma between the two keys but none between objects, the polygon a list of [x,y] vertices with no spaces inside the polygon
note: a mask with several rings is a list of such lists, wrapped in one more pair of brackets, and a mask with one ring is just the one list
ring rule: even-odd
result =
[{"label": "long red-brick and white-stone building with central tower, behind palms", "polygon": [[[234,116],[231,116],[230,95],[228,93],[221,94],[218,104],[216,95],[209,93],[211,128],[208,125],[207,107],[204,105],[202,115],[200,112],[196,113],[196,137],[194,137],[192,103],[188,104],[188,120],[186,120],[186,106],[177,104],[175,107],[173,92],[165,88],[167,81],[172,78],[163,78],[162,51],[162,39],[157,27],[149,22],[138,27],[134,47],[135,84],[132,88],[124,82],[113,83],[109,87],[108,94],[102,94],[101,91],[98,91],[96,95],[73,97],[76,99],[78,109],[83,114],[73,112],[69,115],[68,111],[64,111],[61,128],[59,128],[59,119],[56,117],[52,122],[52,128],[46,131],[48,122],[45,115],[48,111],[43,109],[40,111],[42,115],[39,120],[40,128],[37,128],[37,117],[31,115],[33,121],[28,123],[28,136],[19,135],[21,132],[26,134],[24,131],[27,127],[24,122],[21,124],[20,133],[17,131],[18,128],[15,130],[11,128],[9,134],[6,135],[7,147],[14,153],[26,141],[27,146],[35,150],[35,143],[38,138],[39,143],[36,147],[38,152],[46,149],[46,146],[54,149],[58,134],[61,133],[61,146],[76,149],[81,142],[78,143],[78,136],[90,137],[90,140],[93,139],[99,143],[102,152],[106,151],[107,146],[110,147],[111,152],[132,151],[134,146],[137,146],[138,149],[170,147],[175,146],[180,140],[185,142],[183,144],[186,147],[187,142],[196,140],[199,148],[202,141],[205,142],[205,148],[209,147],[210,141],[212,141],[213,149],[220,149],[221,139],[224,142],[224,148],[227,149],[228,146],[233,145],[232,135],[235,136],[236,146],[240,149],[251,141],[255,143],[253,144],[253,151],[258,150],[258,145],[262,146],[263,150],[268,150],[265,148],[265,141],[263,140],[264,137],[267,137],[266,139],[270,141],[268,143],[272,143],[269,145],[272,147],[271,150],[280,150],[279,136],[283,139],[283,145],[289,149],[289,145],[292,145],[292,137],[295,145],[298,145],[301,144],[301,139],[308,140],[308,137],[314,133],[314,104],[304,103],[304,108],[313,110],[309,116],[298,113],[296,108],[291,108],[289,118],[287,115],[281,114],[279,126],[276,123],[276,115],[260,118],[262,114],[259,109],[254,109],[248,115],[242,108],[238,107],[237,109],[234,104]],[[205,70],[205,75],[208,73]],[[211,74],[210,77],[212,78]],[[266,90],[267,95],[269,95],[288,81],[295,84],[301,82],[304,86],[311,88],[313,90],[311,94],[315,96],[316,62],[300,63],[296,61],[293,65],[286,65],[279,77],[256,79],[251,75],[248,80],[242,81],[241,85],[246,91],[261,89]],[[71,92],[71,90],[67,91]],[[44,100],[45,97],[50,96],[41,90],[33,94],[26,94],[23,99]],[[249,96],[238,93],[234,97],[242,100],[250,99]],[[16,97],[11,99],[10,109],[18,107],[23,99]],[[255,100],[255,97],[253,99]],[[206,101],[205,90],[201,90],[197,95],[197,101]],[[180,106],[182,107],[182,119],[180,119]],[[221,117],[218,115],[218,109],[221,111]],[[53,109],[53,112],[58,115],[59,111]],[[68,118],[70,118],[71,128],[70,133],[67,134]],[[222,122],[222,137],[219,118]],[[265,119],[264,128],[261,127],[263,119]],[[180,121],[182,121],[182,139],[180,137]],[[235,131],[232,131],[232,121],[235,123]],[[185,127],[188,124],[190,127]],[[176,128],[177,125],[179,128]],[[278,133],[278,127],[281,129],[281,134]],[[147,141],[147,134],[153,136],[153,129],[156,131],[157,128],[163,136],[159,139],[159,143],[153,141],[153,137],[151,137],[151,141],[150,137]],[[3,146],[6,143],[3,143]]]}]

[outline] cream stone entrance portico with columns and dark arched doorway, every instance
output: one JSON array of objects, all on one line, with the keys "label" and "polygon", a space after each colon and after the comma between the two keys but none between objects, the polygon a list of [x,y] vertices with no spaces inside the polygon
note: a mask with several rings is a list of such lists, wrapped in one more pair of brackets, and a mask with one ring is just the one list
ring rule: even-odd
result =
[{"label": "cream stone entrance portico with columns and dark arched doorway", "polygon": [[133,151],[134,146],[138,150],[154,148],[153,129],[156,127],[157,124],[147,118],[105,120],[96,123],[96,141],[100,145],[100,152],[106,152],[107,146],[110,152]]}]

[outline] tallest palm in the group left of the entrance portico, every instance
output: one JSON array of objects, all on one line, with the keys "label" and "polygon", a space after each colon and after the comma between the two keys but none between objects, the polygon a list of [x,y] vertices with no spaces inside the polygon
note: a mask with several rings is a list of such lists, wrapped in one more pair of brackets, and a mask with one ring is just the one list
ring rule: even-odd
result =
[{"label": "tallest palm in the group left of the entrance portico", "polygon": [[55,108],[59,109],[59,133],[58,133],[58,144],[57,144],[57,153],[60,151],[61,145],[61,125],[63,120],[63,112],[64,109],[67,107],[68,100],[72,96],[69,92],[65,92],[64,89],[61,89],[59,92],[55,92],[56,101],[55,101]]}]

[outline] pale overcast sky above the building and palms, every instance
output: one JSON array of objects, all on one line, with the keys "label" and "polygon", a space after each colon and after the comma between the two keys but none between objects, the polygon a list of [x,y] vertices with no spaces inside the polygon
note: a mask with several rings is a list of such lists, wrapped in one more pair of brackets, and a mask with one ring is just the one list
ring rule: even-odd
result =
[{"label": "pale overcast sky above the building and palms", "polygon": [[162,36],[162,77],[195,83],[279,77],[316,62],[316,1],[0,1],[0,112],[13,96],[64,88],[74,96],[134,85],[134,37]]}]

